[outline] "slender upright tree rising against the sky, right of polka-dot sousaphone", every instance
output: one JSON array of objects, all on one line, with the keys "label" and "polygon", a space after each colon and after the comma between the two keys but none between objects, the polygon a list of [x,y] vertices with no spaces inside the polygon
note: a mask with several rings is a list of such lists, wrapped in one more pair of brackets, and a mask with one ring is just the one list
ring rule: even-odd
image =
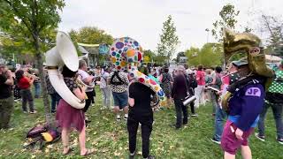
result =
[{"label": "slender upright tree rising against the sky, right of polka-dot sousaphone", "polygon": [[160,34],[160,42],[157,44],[158,62],[164,62],[164,59],[167,59],[167,64],[169,64],[170,58],[179,43],[179,37],[176,34],[176,27],[174,26],[172,16],[169,15],[168,19],[163,23],[162,34]]}]

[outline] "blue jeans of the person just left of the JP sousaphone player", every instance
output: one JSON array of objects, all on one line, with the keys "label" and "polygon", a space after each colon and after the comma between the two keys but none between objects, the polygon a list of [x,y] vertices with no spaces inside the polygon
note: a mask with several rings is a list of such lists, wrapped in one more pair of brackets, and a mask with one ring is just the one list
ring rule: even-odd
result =
[{"label": "blue jeans of the person just left of the JP sousaphone player", "polygon": [[214,139],[215,140],[221,140],[222,132],[223,132],[223,123],[226,119],[226,112],[225,110],[220,109],[219,105],[216,107],[215,112],[215,121],[214,121]]}]

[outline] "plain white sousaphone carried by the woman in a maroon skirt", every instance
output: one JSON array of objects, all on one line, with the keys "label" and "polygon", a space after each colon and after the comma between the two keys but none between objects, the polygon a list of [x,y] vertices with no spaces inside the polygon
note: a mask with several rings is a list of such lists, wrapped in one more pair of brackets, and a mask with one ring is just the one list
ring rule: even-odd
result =
[{"label": "plain white sousaphone carried by the woman in a maroon skirt", "polygon": [[85,102],[80,101],[66,86],[63,75],[59,71],[64,65],[71,71],[79,69],[79,57],[71,38],[64,32],[58,32],[56,46],[45,54],[46,65],[50,77],[50,83],[65,102],[73,108],[82,109]]}]

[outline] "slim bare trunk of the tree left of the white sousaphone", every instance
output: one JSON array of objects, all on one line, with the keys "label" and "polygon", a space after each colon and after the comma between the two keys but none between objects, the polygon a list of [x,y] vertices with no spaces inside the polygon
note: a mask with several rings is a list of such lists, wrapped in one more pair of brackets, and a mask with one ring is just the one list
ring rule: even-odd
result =
[{"label": "slim bare trunk of the tree left of the white sousaphone", "polygon": [[43,70],[43,61],[42,61],[42,54],[39,46],[39,36],[38,34],[34,35],[34,49],[35,49],[35,57],[36,57],[36,65],[37,69],[39,71],[39,77],[42,79],[42,100],[43,100],[43,106],[45,111],[45,119],[46,123],[48,125],[53,125],[54,120],[50,113],[50,101],[49,96],[46,89],[46,81],[45,81],[45,72]]}]

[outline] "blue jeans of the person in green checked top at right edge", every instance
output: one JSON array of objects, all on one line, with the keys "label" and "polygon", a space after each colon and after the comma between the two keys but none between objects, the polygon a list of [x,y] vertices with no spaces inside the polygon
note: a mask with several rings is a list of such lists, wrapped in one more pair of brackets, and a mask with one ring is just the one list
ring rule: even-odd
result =
[{"label": "blue jeans of the person in green checked top at right edge", "polygon": [[282,122],[282,110],[283,103],[266,103],[264,104],[264,110],[259,116],[258,121],[258,133],[260,136],[264,136],[264,118],[269,107],[272,107],[273,117],[275,119],[275,125],[277,130],[277,137],[283,139],[283,122]]}]

